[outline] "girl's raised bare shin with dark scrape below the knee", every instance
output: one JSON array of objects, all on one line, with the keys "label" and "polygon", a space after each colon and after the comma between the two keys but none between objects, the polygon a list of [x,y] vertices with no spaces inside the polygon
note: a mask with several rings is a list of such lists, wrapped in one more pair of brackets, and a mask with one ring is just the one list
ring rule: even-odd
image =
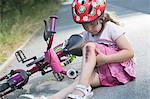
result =
[{"label": "girl's raised bare shin with dark scrape below the knee", "polygon": [[89,85],[91,75],[96,65],[95,44],[87,43],[83,48],[82,71],[79,83]]}]

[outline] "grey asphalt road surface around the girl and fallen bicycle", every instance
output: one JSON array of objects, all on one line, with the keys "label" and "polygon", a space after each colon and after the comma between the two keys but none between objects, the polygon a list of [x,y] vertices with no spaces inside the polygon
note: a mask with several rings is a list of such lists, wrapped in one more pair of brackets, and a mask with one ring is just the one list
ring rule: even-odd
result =
[{"label": "grey asphalt road surface around the girl and fallen bicycle", "polygon": [[[131,4],[129,4],[129,6],[125,5],[129,2],[123,3],[125,5],[123,6],[120,5],[120,2],[117,3],[117,0],[112,1],[116,1],[116,3],[108,0],[107,10],[115,13],[121,23],[123,23],[124,28],[127,30],[127,35],[135,50],[137,79],[126,85],[96,88],[94,90],[95,95],[93,98],[150,99],[150,15],[147,14],[148,12],[145,10],[145,5],[148,3],[145,2],[145,5],[143,5],[143,7],[140,6],[140,10],[137,10],[135,7],[132,8]],[[74,24],[72,21],[70,7],[70,5],[63,5],[57,13],[59,19],[54,45],[64,41],[71,34],[80,33],[83,30],[79,25]],[[39,31],[39,33],[37,33],[37,35],[33,37],[23,49],[28,57],[43,55],[43,52],[46,49],[46,44],[43,40],[42,33],[42,30]],[[74,67],[79,69],[80,62],[80,58],[77,58],[77,60],[67,66],[67,68]],[[11,65],[12,66],[9,67],[7,71],[15,68],[29,69],[24,65],[17,63],[17,61],[13,61]],[[24,86],[24,90],[15,91],[14,93],[7,95],[5,98],[16,99],[22,93],[32,93],[35,96],[42,94],[50,95],[67,86],[71,82],[72,81],[68,78],[65,78],[62,82],[58,82],[51,73],[46,74],[45,76],[36,73],[31,77],[29,83]]]}]

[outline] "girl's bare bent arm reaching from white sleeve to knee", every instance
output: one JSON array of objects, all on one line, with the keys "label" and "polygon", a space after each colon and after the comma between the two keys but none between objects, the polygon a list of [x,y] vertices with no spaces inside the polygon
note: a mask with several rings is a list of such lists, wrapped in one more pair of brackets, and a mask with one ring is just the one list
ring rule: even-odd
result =
[{"label": "girl's bare bent arm reaching from white sleeve to knee", "polygon": [[111,55],[97,55],[97,62],[98,64],[104,64],[104,63],[112,63],[112,62],[122,62],[125,60],[128,60],[130,58],[133,58],[134,51],[128,42],[127,38],[124,35],[121,35],[116,40],[117,46],[119,49],[121,49],[119,52]]}]

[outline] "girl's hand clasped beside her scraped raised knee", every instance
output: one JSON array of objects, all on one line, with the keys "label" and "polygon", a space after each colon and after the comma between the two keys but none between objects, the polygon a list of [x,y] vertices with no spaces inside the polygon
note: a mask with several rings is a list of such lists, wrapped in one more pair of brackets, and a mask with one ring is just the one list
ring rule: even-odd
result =
[{"label": "girl's hand clasped beside her scraped raised knee", "polygon": [[106,57],[107,57],[107,55],[99,52],[97,54],[97,56],[96,56],[96,63],[97,63],[97,65],[104,65],[104,64],[106,64],[107,63],[107,61],[106,61],[107,58]]}]

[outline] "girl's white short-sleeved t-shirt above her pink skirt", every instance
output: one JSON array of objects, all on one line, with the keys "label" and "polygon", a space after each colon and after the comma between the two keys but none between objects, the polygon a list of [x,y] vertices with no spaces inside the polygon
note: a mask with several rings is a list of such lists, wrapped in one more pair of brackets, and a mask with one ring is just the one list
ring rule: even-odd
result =
[{"label": "girl's white short-sleeved t-shirt above her pink skirt", "polygon": [[125,33],[125,30],[121,26],[108,21],[105,24],[104,30],[102,31],[101,35],[92,36],[91,33],[88,33],[87,31],[85,31],[83,32],[83,39],[85,41],[110,44],[110,43],[116,43],[115,41],[117,40],[117,38],[119,38],[124,33]]}]

